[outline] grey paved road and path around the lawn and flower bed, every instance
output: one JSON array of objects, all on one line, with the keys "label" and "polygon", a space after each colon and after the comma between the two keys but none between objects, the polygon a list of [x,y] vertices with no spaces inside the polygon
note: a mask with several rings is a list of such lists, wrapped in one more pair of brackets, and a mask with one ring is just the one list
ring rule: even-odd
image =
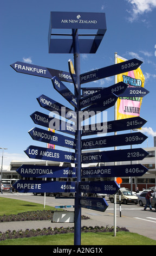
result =
[{"label": "grey paved road and path around the lawn and flower bed", "polygon": [[[0,196],[2,197],[2,195]],[[25,200],[27,202],[41,203],[44,204],[43,196],[33,196],[31,193],[3,193],[3,197],[15,198],[19,200]],[[82,214],[89,216],[89,220],[84,220],[81,225],[95,226],[95,225],[109,225],[112,227],[114,225],[114,204],[109,202],[106,197],[107,203],[109,204],[105,212],[88,210],[82,208]],[[55,199],[55,197],[46,197],[46,205],[56,206],[56,205],[74,205],[74,199]],[[119,204],[116,205],[117,216],[116,225],[119,227],[126,227],[129,231],[138,233],[150,237],[156,240],[156,211],[144,211],[142,207],[134,204],[121,205],[121,217],[119,211]],[[73,209],[68,209],[73,211]],[[13,223],[0,223],[0,230],[3,232],[5,230],[13,229],[31,229],[31,228],[44,228],[44,227],[73,227],[74,223],[51,223],[50,221],[34,221],[34,222],[13,222]]]}]

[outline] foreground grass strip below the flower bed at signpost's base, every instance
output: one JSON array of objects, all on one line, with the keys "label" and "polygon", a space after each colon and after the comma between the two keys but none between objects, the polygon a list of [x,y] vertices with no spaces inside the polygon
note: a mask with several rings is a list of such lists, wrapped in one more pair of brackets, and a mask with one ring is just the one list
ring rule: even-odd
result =
[{"label": "foreground grass strip below the flower bed at signpost's base", "polygon": [[[1,245],[74,245],[74,234],[36,236],[0,241]],[[156,245],[156,241],[136,233],[81,233],[81,245]]]}]

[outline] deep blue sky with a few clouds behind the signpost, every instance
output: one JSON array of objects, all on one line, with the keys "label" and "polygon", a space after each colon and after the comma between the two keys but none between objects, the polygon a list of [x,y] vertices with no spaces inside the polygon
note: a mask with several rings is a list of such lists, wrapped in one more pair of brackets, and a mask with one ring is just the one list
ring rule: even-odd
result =
[{"label": "deep blue sky with a few clouds behind the signpost", "polygon": [[[114,52],[126,59],[143,61],[141,70],[145,76],[145,88],[150,93],[142,101],[140,116],[148,121],[142,129],[148,141],[139,147],[153,147],[153,136],[156,136],[156,0],[6,0],[0,9],[0,147],[8,148],[4,151],[3,169],[8,168],[11,160],[29,160],[24,153],[29,145],[45,147],[44,143],[33,141],[28,134],[35,126],[30,114],[35,111],[48,114],[36,97],[44,94],[72,108],[55,92],[49,79],[19,74],[10,67],[19,61],[68,71],[68,59],[73,60],[73,54],[48,53],[50,11],[106,14],[107,32],[95,54],[81,54],[81,74],[113,65]],[[108,87],[112,84],[114,77],[109,77],[88,83],[86,87]],[[72,88],[72,84],[68,86]],[[108,109],[107,115],[108,120],[114,119],[113,108]]]}]

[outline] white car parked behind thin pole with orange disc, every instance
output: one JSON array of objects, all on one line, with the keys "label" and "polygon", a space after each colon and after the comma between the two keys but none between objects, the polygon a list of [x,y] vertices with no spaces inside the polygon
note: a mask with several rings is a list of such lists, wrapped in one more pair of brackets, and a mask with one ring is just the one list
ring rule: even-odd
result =
[{"label": "white car parked behind thin pole with orange disc", "polygon": [[[121,194],[121,203],[138,204],[138,197],[134,196],[134,194],[131,193],[131,191],[123,190],[122,188],[120,188],[120,190],[116,193],[116,202],[119,202],[119,193]],[[109,195],[109,200],[111,201],[111,203],[114,203],[114,194]]]}]

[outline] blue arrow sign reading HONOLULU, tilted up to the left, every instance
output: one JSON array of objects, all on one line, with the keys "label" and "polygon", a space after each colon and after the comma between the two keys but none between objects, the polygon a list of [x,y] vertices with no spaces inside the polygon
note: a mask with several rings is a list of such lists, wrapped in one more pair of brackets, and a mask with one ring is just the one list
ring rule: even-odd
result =
[{"label": "blue arrow sign reading HONOLULU, tilted up to the left", "polygon": [[50,99],[45,95],[41,95],[37,98],[38,103],[41,107],[46,108],[49,111],[58,112],[61,117],[65,117],[72,121],[76,120],[76,113],[70,108],[63,106],[62,104],[56,102],[55,100]]}]

